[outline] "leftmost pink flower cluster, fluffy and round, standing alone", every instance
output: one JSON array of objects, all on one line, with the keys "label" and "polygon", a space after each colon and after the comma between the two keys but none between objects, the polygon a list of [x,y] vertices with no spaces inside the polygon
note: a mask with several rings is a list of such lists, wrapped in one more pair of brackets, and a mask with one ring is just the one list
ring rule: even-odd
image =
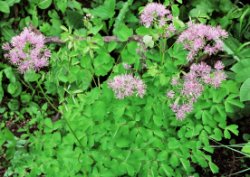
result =
[{"label": "leftmost pink flower cluster, fluffy and round, standing alone", "polygon": [[36,34],[30,28],[24,28],[2,48],[8,52],[4,56],[18,66],[21,73],[24,73],[27,70],[39,71],[40,68],[48,66],[51,53],[44,44],[45,38],[42,34]]}]

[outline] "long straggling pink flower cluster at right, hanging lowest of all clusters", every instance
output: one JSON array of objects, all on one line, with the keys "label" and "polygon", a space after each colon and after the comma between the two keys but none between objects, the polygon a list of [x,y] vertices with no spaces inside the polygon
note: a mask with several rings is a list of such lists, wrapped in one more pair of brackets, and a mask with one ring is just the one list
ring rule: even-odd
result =
[{"label": "long straggling pink flower cluster at right, hanging lowest of all clusters", "polygon": [[[204,62],[192,64],[189,73],[185,74],[182,80],[172,80],[172,86],[180,95],[176,95],[173,90],[167,92],[167,97],[173,101],[171,109],[175,113],[176,118],[183,120],[188,113],[193,110],[193,104],[202,94],[205,85],[210,85],[215,88],[219,87],[226,79],[226,74],[223,71],[224,65],[218,61],[212,69]],[[179,102],[182,102],[179,104]]]}]

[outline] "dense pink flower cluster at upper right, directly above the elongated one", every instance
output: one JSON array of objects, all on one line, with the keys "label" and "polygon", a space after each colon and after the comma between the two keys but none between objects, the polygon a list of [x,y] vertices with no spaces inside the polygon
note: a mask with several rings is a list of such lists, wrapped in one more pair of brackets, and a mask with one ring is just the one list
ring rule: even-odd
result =
[{"label": "dense pink flower cluster at upper right, directly above the elongated one", "polygon": [[178,37],[178,42],[183,43],[184,48],[189,51],[187,59],[193,60],[199,52],[209,55],[223,50],[221,39],[226,38],[228,33],[221,27],[212,27],[204,24],[188,23],[188,28]]}]

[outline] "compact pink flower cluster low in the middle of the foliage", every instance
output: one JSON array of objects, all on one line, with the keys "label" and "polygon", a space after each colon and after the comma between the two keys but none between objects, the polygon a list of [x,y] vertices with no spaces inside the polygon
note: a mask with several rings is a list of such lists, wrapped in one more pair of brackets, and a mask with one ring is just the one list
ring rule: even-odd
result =
[{"label": "compact pink flower cluster low in the middle of the foliage", "polygon": [[131,74],[115,76],[113,80],[108,82],[108,86],[118,99],[124,99],[134,94],[142,98],[146,93],[146,85],[143,81]]}]

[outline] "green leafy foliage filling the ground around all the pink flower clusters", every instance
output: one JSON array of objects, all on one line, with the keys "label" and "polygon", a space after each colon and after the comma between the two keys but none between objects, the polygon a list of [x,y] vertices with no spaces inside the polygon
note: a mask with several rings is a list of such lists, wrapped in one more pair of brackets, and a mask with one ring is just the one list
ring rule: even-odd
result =
[{"label": "green leafy foliage filling the ground around all the pink flower clusters", "polygon": [[[49,66],[39,72],[20,73],[0,51],[0,175],[246,174],[249,4],[237,0],[161,2],[171,10],[177,30],[191,19],[220,25],[229,33],[223,40],[224,51],[205,56],[211,66],[223,61],[227,80],[219,88],[206,86],[194,110],[180,121],[169,108],[166,91],[173,76],[189,71],[188,52],[175,42],[178,34],[161,39],[162,31],[140,23],[147,3],[0,1],[1,45],[25,27],[60,39],[46,44],[51,51]],[[140,41],[135,35],[147,37]],[[117,99],[108,86],[115,76],[129,73],[147,85],[143,98]],[[237,168],[223,166],[223,154],[236,159]]]}]

